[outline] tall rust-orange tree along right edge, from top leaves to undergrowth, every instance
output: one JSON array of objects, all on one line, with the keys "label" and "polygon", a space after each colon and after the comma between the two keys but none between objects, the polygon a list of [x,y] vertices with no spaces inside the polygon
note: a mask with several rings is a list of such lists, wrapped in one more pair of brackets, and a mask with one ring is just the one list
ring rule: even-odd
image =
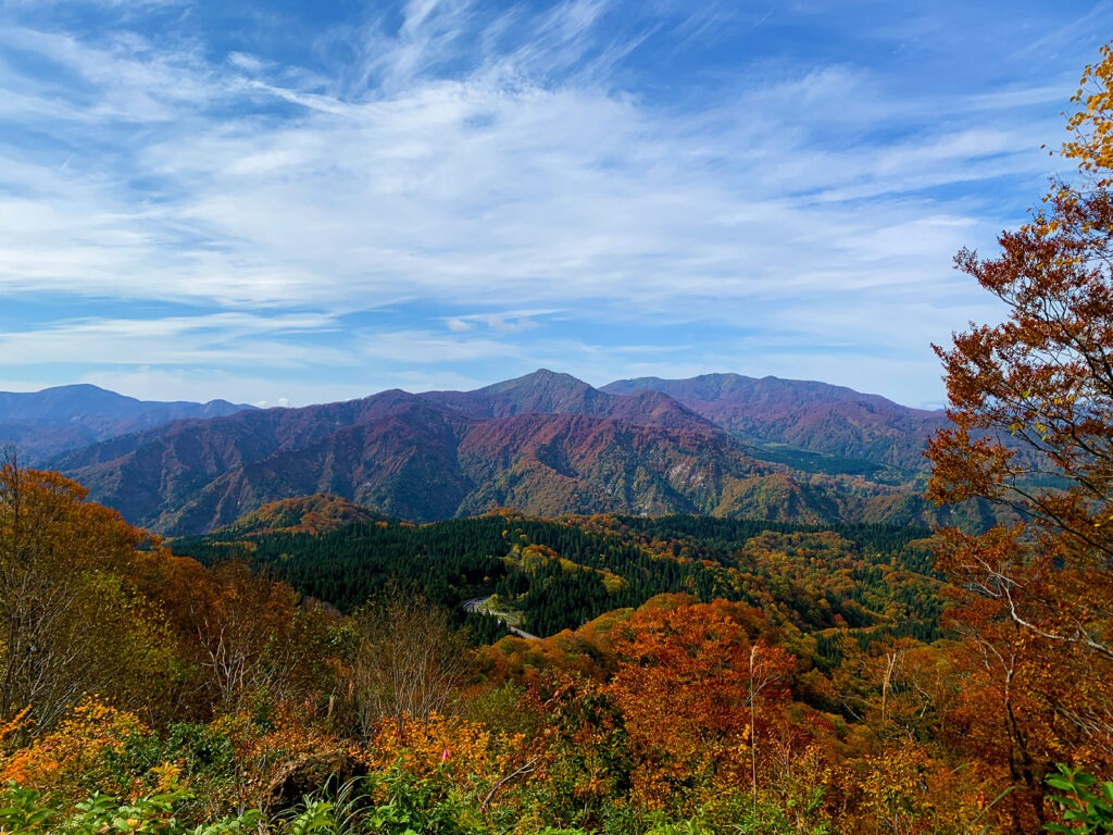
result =
[{"label": "tall rust-orange tree along right edge, from top leaves to undergrowth", "polygon": [[1081,177],[1054,181],[994,257],[956,258],[1007,318],[936,347],[954,426],[929,445],[929,493],[987,499],[1020,520],[947,532],[939,564],[966,595],[955,619],[969,669],[985,674],[972,672],[965,697],[986,700],[969,710],[1003,719],[982,745],[1034,795],[1033,818],[1013,816],[1021,827],[1042,816],[1054,758],[1113,768],[1113,52],[1102,58],[1063,148]]}]

